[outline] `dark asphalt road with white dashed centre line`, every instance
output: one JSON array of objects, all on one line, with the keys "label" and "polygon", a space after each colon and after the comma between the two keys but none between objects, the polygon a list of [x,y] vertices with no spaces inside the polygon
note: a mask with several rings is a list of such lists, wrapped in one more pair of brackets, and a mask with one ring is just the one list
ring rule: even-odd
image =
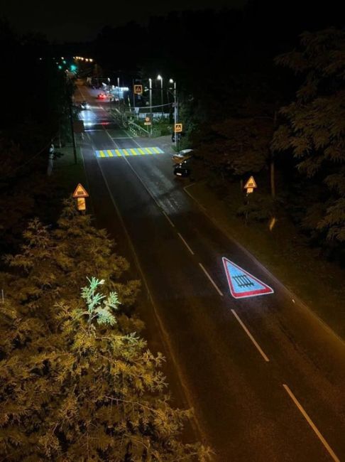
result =
[{"label": "dark asphalt road with white dashed centre line", "polygon": [[[155,139],[131,138],[81,91],[92,104],[82,155],[95,213],[109,229],[124,225],[153,301],[146,322],[168,346],[198,437],[221,462],[345,460],[344,343],[202,213],[170,155],[97,158]],[[234,299],[222,257],[274,294]]]}]

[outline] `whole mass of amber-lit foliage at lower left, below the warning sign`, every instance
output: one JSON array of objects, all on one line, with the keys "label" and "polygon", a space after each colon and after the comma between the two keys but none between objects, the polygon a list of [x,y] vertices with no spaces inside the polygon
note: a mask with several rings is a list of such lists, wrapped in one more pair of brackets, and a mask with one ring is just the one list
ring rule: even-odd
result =
[{"label": "whole mass of amber-lit foliage at lower left, below the warning sign", "polygon": [[1,274],[1,457],[208,460],[203,446],[180,442],[190,412],[170,407],[163,357],[136,333],[138,281],[124,281],[114,242],[72,202],[56,229],[33,220],[24,237]]}]

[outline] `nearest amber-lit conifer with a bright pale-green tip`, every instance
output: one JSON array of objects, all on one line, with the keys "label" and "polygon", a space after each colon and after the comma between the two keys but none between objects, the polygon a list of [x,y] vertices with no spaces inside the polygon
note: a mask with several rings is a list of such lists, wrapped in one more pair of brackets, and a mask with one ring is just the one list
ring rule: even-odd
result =
[{"label": "nearest amber-lit conifer with a bright pale-green tip", "polygon": [[[8,460],[207,461],[200,444],[179,440],[190,412],[163,393],[163,357],[116,326],[116,292],[94,277],[81,301],[54,305],[47,319],[21,318],[7,304],[1,341],[0,453]],[[6,322],[7,321],[7,322]],[[20,336],[19,336],[20,335]]]}]

